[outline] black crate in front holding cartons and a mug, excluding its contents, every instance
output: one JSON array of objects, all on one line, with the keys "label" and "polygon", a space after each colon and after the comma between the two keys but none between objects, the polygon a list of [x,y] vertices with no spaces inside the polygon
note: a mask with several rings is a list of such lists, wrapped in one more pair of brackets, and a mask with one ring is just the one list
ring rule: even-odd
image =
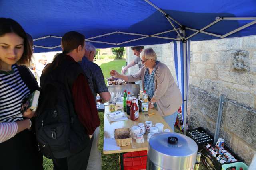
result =
[{"label": "black crate in front holding cartons and a mug, excluding its contents", "polygon": [[[235,163],[235,162],[230,162],[230,163],[221,164],[220,162],[218,162],[218,160],[214,156],[212,156],[212,154],[210,154],[210,152],[206,149],[205,146],[206,145],[204,145],[202,149],[201,160],[209,170],[222,170],[221,168],[222,165]],[[212,147],[215,147],[215,146],[212,146]],[[243,160],[240,157],[238,157],[234,152],[232,152],[232,150],[230,150],[229,147],[224,145],[224,148],[238,160],[236,162],[243,162]]]}]

